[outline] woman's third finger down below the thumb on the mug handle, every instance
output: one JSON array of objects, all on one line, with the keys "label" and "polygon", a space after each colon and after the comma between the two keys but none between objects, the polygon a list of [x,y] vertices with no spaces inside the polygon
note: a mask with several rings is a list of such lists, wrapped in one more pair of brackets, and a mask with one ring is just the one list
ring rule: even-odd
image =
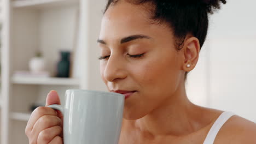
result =
[{"label": "woman's third finger down below the thumb on the mug handle", "polygon": [[37,144],[48,144],[54,137],[60,136],[62,128],[59,125],[45,129],[41,131],[38,135]]}]

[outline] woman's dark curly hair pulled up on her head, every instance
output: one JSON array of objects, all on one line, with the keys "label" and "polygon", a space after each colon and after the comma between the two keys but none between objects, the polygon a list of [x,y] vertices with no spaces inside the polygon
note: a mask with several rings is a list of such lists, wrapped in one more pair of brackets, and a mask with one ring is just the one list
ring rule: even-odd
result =
[{"label": "woman's dark curly hair pulled up on her head", "polygon": [[[108,0],[106,9],[120,0]],[[165,23],[173,31],[176,38],[176,48],[181,50],[187,34],[199,39],[200,50],[205,42],[208,31],[208,14],[220,9],[225,0],[123,0],[132,4],[149,3],[150,19],[159,24]],[[188,72],[185,73],[185,80]]]}]

